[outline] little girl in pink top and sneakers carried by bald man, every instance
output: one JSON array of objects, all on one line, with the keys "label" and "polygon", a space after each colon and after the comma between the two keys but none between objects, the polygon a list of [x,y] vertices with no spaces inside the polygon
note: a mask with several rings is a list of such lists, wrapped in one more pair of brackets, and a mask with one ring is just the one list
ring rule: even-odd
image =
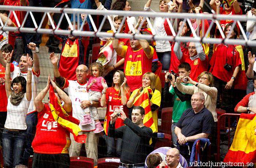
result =
[{"label": "little girl in pink top and sneakers carried by bald man", "polygon": [[[89,90],[90,97],[89,100],[91,101],[99,101],[102,96],[102,74],[103,74],[103,66],[101,63],[94,62],[90,66],[90,74],[92,75],[89,79],[89,82],[87,83],[86,89]],[[104,79],[105,81],[105,79]],[[106,94],[106,93],[103,93]],[[94,106],[90,106],[86,109],[84,109],[85,115],[84,115],[84,121],[82,121],[81,125],[87,125],[92,123],[92,119],[95,121],[95,127],[94,133],[99,133],[103,131],[103,127],[101,126],[101,123],[99,122],[99,116],[97,108]],[[91,114],[90,114],[91,112]]]}]

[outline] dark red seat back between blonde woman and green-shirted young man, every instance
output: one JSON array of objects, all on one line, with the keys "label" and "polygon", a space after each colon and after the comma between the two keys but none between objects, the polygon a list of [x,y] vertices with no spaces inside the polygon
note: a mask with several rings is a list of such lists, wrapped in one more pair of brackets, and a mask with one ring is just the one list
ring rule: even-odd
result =
[{"label": "dark red seat back between blonde woman and green-shirted young man", "polygon": [[161,124],[161,132],[172,134],[172,116],[173,116],[173,108],[163,108],[162,109],[162,124]]}]

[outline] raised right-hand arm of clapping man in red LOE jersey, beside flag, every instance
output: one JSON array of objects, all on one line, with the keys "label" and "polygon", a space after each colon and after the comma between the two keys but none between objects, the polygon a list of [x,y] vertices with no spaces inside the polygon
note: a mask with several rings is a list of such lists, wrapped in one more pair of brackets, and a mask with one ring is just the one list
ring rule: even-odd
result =
[{"label": "raised right-hand arm of clapping man in red LOE jersey, beside flag", "polygon": [[61,90],[53,81],[52,79],[50,79],[50,82],[53,86],[53,88],[57,91],[57,93],[59,94],[60,98],[64,101],[64,109],[67,113],[70,113],[72,111],[72,102],[71,99],[68,97],[68,95]]}]

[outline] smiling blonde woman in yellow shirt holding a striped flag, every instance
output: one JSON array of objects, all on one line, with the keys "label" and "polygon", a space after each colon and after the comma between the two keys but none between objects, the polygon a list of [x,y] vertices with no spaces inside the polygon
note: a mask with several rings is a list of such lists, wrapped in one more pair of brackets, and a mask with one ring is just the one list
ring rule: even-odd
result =
[{"label": "smiling blonde woman in yellow shirt holding a striped flag", "polygon": [[[140,95],[140,93],[146,89],[146,87],[150,86],[150,88],[153,90],[152,94],[149,94],[149,103],[150,103],[150,107],[151,107],[151,112],[152,112],[152,116],[153,116],[153,120],[155,118],[158,118],[157,116],[157,109],[160,107],[161,104],[161,93],[160,91],[155,89],[155,85],[156,85],[156,78],[155,78],[155,74],[151,73],[151,72],[147,72],[143,75],[142,77],[142,87],[140,87],[139,89],[135,89],[130,98],[129,101],[127,102],[127,107],[131,108],[133,106],[133,103],[135,101],[135,98],[137,96]],[[157,120],[154,120],[154,124],[155,124],[155,128],[157,129]],[[158,129],[157,131],[158,132]]]}]

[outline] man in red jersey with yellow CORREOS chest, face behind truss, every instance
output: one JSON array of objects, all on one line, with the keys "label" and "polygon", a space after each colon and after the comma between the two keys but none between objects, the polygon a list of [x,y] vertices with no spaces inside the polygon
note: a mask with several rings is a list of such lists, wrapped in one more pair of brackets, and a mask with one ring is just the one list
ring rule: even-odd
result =
[{"label": "man in red jersey with yellow CORREOS chest, face behind truss", "polygon": [[[53,14],[50,13],[52,20]],[[84,19],[84,15],[81,15]],[[54,23],[55,24],[55,23]],[[48,19],[49,28],[52,28],[52,24]],[[56,24],[55,24],[56,27]],[[68,26],[68,30],[71,30],[71,27]],[[75,23],[74,30],[77,30],[77,23]],[[89,25],[87,22],[83,26],[83,31],[90,31]],[[76,37],[73,35],[58,35],[57,39],[62,43],[62,49],[60,54],[60,59],[58,63],[58,68],[61,77],[67,78],[68,80],[76,80],[76,67],[79,65],[85,64],[86,60],[86,51],[89,44],[89,37]],[[70,66],[72,65],[72,66]]]}]

